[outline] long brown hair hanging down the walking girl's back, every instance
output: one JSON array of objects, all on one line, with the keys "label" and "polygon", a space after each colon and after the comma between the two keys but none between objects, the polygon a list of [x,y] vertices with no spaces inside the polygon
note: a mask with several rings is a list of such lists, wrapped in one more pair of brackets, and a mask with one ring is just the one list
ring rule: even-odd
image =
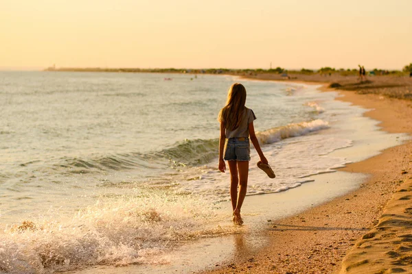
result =
[{"label": "long brown hair hanging down the walking girl's back", "polygon": [[219,112],[218,121],[223,123],[226,129],[233,130],[238,128],[242,120],[245,103],[246,88],[239,83],[231,85],[227,93],[226,105]]}]

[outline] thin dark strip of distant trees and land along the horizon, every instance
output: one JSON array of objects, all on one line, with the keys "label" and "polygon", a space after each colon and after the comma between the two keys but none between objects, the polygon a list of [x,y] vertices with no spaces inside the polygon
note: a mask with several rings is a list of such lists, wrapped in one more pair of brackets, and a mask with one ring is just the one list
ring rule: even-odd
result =
[{"label": "thin dark strip of distant trees and land along the horizon", "polygon": [[[251,75],[258,73],[277,73],[277,74],[332,74],[339,73],[340,75],[357,75],[358,69],[334,69],[329,66],[321,69],[301,69],[301,70],[287,70],[281,67],[275,69],[138,69],[138,68],[55,68],[49,67],[45,71],[79,71],[79,72],[110,72],[110,73],[207,73],[207,74],[236,74],[236,75]],[[405,75],[412,72],[412,63],[404,66],[402,71],[388,71],[384,69],[369,70],[371,75]]]}]

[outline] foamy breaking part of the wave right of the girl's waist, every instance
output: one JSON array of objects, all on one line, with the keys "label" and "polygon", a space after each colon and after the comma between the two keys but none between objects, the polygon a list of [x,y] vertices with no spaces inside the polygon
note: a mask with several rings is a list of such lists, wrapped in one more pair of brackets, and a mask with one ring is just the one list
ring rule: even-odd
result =
[{"label": "foamy breaking part of the wave right of the girl's waist", "polygon": [[328,122],[317,119],[310,122],[293,123],[282,127],[275,127],[273,129],[265,130],[264,132],[257,132],[256,136],[261,144],[271,144],[286,138],[302,136],[310,132],[317,132],[318,130],[327,129],[328,127]]}]

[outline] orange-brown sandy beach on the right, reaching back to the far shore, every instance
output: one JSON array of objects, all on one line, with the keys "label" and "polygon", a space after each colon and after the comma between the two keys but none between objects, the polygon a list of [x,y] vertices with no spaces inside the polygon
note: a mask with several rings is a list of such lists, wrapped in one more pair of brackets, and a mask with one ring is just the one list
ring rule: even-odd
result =
[{"label": "orange-brown sandy beach on the right, reaching back to the far shore", "polygon": [[[267,75],[255,79],[277,80]],[[301,77],[293,81],[337,82],[343,101],[370,109],[385,132],[412,133],[411,79]],[[402,98],[402,99],[398,99]],[[286,219],[273,221],[270,243],[258,252],[207,273],[411,273],[412,142],[347,165],[341,171],[371,175],[358,190]]]}]

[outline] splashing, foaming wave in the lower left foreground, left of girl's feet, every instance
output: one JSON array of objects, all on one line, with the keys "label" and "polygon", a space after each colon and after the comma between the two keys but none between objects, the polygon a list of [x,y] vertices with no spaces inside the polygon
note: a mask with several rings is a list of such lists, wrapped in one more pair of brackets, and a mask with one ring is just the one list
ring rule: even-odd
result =
[{"label": "splashing, foaming wave in the lower left foreground, left of girl's feet", "polygon": [[0,270],[55,273],[159,262],[185,240],[232,233],[229,222],[222,225],[225,219],[211,203],[170,193],[101,200],[73,218],[27,220],[5,229]]}]

